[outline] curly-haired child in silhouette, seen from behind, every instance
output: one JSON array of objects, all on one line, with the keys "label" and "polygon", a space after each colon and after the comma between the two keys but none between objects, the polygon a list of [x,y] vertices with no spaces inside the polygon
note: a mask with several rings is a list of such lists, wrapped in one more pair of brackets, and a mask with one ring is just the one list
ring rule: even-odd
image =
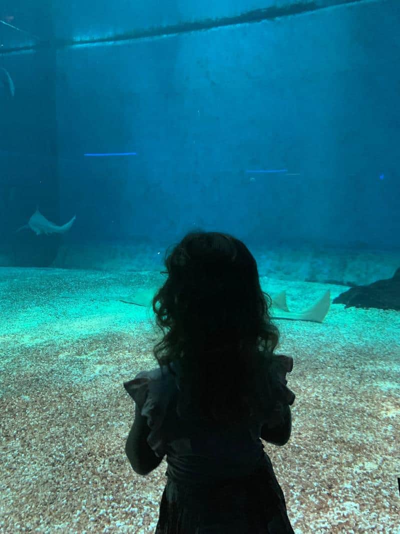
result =
[{"label": "curly-haired child in silhouette, seen from behind", "polygon": [[135,422],[125,451],[146,475],[166,454],[156,534],[294,534],[260,437],[291,434],[293,360],[257,263],[231,235],[190,232],[167,255],[153,299],[159,368],[125,382]]}]

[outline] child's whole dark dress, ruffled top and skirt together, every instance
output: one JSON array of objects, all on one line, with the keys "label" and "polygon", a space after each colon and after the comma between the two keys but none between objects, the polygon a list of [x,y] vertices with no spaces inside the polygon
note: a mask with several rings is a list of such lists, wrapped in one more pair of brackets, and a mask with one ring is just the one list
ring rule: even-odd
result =
[{"label": "child's whole dark dress, ruffled top and skirt together", "polygon": [[[291,405],[285,375],[293,360],[274,356],[260,374],[260,405],[244,423],[221,425],[200,420],[179,395],[180,368],[139,373],[125,382],[137,409],[147,418],[147,442],[167,460],[167,483],[156,534],[294,534],[285,498],[260,440],[271,407]],[[266,364],[267,365],[267,364]]]}]

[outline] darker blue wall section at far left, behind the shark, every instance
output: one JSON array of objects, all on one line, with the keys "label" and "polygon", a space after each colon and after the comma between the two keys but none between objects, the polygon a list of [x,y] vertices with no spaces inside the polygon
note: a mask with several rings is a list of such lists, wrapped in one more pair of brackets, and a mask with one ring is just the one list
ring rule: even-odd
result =
[{"label": "darker blue wall section at far left, behind the shark", "polygon": [[39,9],[36,3],[15,0],[0,10],[2,20],[24,28],[0,25],[0,66],[15,89],[11,96],[0,84],[0,244],[10,251],[9,261],[21,266],[51,264],[59,245],[54,235],[41,239],[30,230],[15,233],[37,206],[51,220],[59,219],[56,51],[44,46],[11,52],[33,42],[30,32],[43,40],[54,37],[51,5],[44,0]]}]

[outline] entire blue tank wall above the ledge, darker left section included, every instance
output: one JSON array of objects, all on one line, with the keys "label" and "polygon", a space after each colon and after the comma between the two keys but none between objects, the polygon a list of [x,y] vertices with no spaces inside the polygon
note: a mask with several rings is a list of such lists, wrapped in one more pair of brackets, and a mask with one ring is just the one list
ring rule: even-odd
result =
[{"label": "entire blue tank wall above the ledge, darker left section included", "polygon": [[[12,33],[33,53],[3,58],[17,87],[2,102],[3,241],[39,203],[58,224],[77,215],[67,245],[202,227],[254,246],[399,246],[395,0],[23,4],[49,42]],[[5,169],[12,152],[29,158]]]}]

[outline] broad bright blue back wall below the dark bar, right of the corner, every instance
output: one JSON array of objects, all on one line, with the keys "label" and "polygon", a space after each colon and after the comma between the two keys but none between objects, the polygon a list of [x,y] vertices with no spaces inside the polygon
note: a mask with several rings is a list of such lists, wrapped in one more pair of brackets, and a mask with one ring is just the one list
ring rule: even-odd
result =
[{"label": "broad bright blue back wall below the dark bar, right of the corner", "polygon": [[398,246],[399,21],[396,1],[359,2],[59,50],[70,238]]}]

